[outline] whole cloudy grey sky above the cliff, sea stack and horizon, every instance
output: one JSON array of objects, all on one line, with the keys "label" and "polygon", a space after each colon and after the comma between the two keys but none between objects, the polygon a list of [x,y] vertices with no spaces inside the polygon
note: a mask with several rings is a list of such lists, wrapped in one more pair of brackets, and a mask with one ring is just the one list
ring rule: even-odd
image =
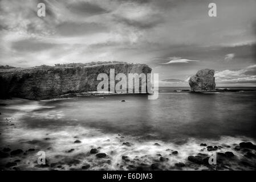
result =
[{"label": "whole cloudy grey sky above the cliff, sea stack and horizon", "polygon": [[217,86],[256,86],[255,10],[255,0],[0,0],[0,64],[143,63],[160,86],[208,68]]}]

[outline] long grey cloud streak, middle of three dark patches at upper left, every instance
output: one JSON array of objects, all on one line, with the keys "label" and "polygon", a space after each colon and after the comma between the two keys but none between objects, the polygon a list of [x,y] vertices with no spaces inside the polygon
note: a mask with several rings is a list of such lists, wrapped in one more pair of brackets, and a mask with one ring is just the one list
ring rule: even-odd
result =
[{"label": "long grey cloud streak, middle of three dark patches at upper left", "polygon": [[107,31],[108,27],[101,23],[62,22],[56,26],[56,34],[62,36],[80,36]]}]

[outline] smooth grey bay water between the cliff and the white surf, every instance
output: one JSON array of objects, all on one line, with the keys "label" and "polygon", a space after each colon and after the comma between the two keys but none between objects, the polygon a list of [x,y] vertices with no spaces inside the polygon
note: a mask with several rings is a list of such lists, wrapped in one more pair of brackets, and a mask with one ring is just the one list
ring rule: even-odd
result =
[{"label": "smooth grey bay water between the cliff and the white surf", "polygon": [[103,133],[161,140],[256,136],[255,92],[164,92],[158,100],[147,100],[146,95],[95,96],[41,101],[38,105],[22,118],[27,127],[79,125]]}]

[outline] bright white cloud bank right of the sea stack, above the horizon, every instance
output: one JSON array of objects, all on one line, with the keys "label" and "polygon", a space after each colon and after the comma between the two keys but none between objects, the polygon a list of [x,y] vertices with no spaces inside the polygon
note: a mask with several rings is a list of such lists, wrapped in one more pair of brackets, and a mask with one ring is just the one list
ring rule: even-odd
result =
[{"label": "bright white cloud bank right of the sea stack, above the horizon", "polygon": [[244,69],[216,72],[214,77],[217,83],[238,84],[238,83],[256,83],[256,64],[250,65]]}]

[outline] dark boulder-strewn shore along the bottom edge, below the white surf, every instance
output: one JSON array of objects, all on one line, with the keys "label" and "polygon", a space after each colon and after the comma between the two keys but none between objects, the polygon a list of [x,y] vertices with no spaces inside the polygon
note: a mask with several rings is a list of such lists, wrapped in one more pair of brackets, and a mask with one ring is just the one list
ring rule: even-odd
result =
[{"label": "dark boulder-strewn shore along the bottom edge, below the white surf", "polygon": [[[121,139],[122,136],[119,135]],[[44,138],[47,140],[47,138]],[[37,141],[39,142],[39,141]],[[31,142],[33,143],[33,141]],[[36,141],[34,141],[36,143]],[[82,143],[80,140],[74,140],[74,143]],[[131,147],[133,144],[129,142],[121,142],[123,147]],[[155,143],[156,146],[160,145]],[[117,170],[255,170],[255,150],[256,146],[251,142],[241,142],[239,144],[234,144],[233,146],[208,146],[205,143],[198,144],[201,147],[200,152],[197,154],[187,157],[185,162],[173,163],[167,165],[170,156],[178,156],[180,151],[172,150],[167,148],[169,155],[157,154],[156,156],[135,156],[134,158],[128,155],[121,156],[120,159],[113,159],[112,151],[110,154],[106,154],[101,147],[91,148],[90,151],[84,151],[83,154],[72,156],[70,158],[66,156],[56,155],[55,159],[46,159],[46,164],[38,164],[37,161],[30,161],[33,168],[30,170],[94,170],[95,165],[102,166],[102,170],[109,170],[109,165],[111,165],[112,160],[119,160],[116,164]],[[31,145],[32,147],[32,145]],[[241,153],[243,158],[238,158],[237,155],[233,154],[231,151],[218,152],[222,148],[233,148],[235,151]],[[52,148],[47,148],[47,150],[52,150]],[[74,148],[70,148],[65,151],[67,154],[74,152]],[[217,152],[217,164],[210,165],[208,163],[209,155],[206,151],[216,151]],[[12,148],[3,147],[0,151],[0,158],[2,160],[0,169],[1,170],[26,170],[26,160],[25,156],[33,156],[38,152],[35,148]],[[84,158],[90,158],[91,163],[83,163]],[[4,160],[4,162],[3,162]],[[104,166],[104,167],[103,167]]]}]

